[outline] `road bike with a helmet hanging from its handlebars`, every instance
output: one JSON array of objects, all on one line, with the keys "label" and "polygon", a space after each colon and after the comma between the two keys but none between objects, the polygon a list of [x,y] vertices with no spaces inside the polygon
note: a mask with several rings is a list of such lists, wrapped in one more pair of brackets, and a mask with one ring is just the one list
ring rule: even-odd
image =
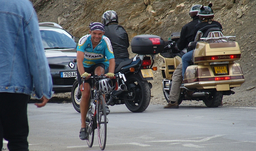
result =
[{"label": "road bike with a helmet hanging from its handlebars", "polygon": [[[83,87],[81,91],[84,90],[84,80],[83,77]],[[89,110],[86,116],[86,128],[87,128],[87,144],[89,147],[93,146],[95,129],[98,131],[98,140],[100,149],[104,150],[106,146],[106,133],[107,133],[107,123],[106,118],[106,107],[104,101],[104,94],[108,94],[112,91],[112,80],[106,78],[103,75],[94,75],[89,77],[90,84],[90,101]]]}]

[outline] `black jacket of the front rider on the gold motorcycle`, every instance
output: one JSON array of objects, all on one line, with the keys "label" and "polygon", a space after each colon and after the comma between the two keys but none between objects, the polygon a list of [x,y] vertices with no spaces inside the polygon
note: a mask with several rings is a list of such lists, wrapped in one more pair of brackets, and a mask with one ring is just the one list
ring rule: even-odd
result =
[{"label": "black jacket of the front rider on the gold motorcycle", "polygon": [[[184,48],[187,48],[189,42],[192,42],[192,36],[193,36],[193,29],[194,27],[200,23],[201,20],[198,16],[194,17],[192,21],[184,25],[181,29],[181,36],[180,40],[177,42],[177,46],[179,50],[183,50]],[[189,51],[189,50],[188,50]]]}]

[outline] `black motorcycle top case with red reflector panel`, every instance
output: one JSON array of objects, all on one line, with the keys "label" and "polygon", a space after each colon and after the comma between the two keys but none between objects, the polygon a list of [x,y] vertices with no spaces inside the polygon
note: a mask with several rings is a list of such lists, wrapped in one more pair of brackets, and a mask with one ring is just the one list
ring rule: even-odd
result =
[{"label": "black motorcycle top case with red reflector panel", "polygon": [[165,41],[156,35],[138,35],[131,40],[131,51],[135,54],[154,55],[162,53]]}]

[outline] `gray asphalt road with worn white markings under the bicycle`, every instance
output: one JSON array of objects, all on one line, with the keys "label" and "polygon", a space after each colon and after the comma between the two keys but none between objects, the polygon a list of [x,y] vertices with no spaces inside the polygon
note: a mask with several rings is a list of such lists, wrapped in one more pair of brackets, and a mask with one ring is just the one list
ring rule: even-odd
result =
[{"label": "gray asphalt road with worn white markings under the bicycle", "polygon": [[[110,107],[105,150],[111,151],[255,151],[256,108],[150,105],[132,113],[124,105]],[[79,139],[80,114],[72,104],[28,105],[30,151],[100,150]],[[4,141],[6,148],[6,141]]]}]

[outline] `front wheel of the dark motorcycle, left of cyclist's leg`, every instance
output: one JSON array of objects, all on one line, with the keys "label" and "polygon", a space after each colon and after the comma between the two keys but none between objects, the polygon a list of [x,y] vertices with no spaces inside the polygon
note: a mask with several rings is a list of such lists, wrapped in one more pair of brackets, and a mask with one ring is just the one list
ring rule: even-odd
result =
[{"label": "front wheel of the dark motorcycle, left of cyclist's leg", "polygon": [[78,81],[75,80],[71,90],[71,101],[74,109],[80,113],[80,101],[82,98],[82,94],[80,93],[79,95],[76,95],[76,91],[77,89],[79,89],[78,85],[79,85]]}]

